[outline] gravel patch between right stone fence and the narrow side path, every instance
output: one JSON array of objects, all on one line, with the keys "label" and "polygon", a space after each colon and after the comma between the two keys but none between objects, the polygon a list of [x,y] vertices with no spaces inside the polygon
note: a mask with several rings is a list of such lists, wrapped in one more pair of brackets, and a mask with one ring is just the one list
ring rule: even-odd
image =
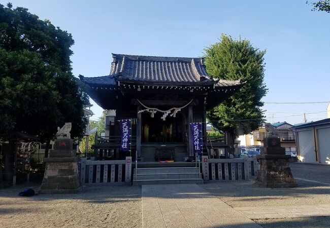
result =
[{"label": "gravel patch between right stone fence and the narrow side path", "polygon": [[297,183],[296,188],[265,188],[254,181],[223,181],[200,186],[232,207],[330,204],[330,186]]}]

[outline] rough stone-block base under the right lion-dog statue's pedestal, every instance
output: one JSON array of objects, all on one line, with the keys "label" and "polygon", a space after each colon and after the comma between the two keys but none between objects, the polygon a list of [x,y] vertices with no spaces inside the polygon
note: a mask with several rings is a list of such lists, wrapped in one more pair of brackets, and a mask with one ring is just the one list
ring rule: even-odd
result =
[{"label": "rough stone-block base under the right lion-dog statue's pedestal", "polygon": [[289,167],[289,155],[258,155],[260,170],[255,183],[274,188],[297,187]]}]

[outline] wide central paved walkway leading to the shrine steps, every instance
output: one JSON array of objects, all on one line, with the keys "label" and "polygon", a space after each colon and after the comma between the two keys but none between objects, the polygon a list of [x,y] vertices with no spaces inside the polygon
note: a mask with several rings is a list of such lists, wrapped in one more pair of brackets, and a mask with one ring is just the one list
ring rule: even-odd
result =
[{"label": "wide central paved walkway leading to the shrine steps", "polygon": [[143,227],[261,227],[196,184],[142,185]]}]

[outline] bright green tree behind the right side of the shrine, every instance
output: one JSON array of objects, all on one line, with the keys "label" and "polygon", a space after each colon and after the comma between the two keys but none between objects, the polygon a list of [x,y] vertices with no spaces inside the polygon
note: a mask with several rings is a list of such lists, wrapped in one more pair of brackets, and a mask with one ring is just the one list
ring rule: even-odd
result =
[{"label": "bright green tree behind the right side of the shrine", "polygon": [[240,91],[207,112],[212,125],[226,132],[227,143],[233,150],[237,134],[249,133],[265,121],[261,98],[267,93],[263,83],[263,55],[266,51],[252,47],[241,37],[234,40],[222,34],[220,41],[206,48],[205,52],[206,69],[213,78],[242,79],[245,82]]}]

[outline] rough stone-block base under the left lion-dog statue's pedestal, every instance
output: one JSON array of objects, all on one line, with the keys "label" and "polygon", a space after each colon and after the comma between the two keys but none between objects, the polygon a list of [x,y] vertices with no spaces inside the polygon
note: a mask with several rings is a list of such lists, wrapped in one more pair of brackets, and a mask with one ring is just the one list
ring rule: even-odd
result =
[{"label": "rough stone-block base under the left lion-dog statue's pedestal", "polygon": [[46,158],[46,170],[40,194],[78,193],[81,184],[78,158]]}]

